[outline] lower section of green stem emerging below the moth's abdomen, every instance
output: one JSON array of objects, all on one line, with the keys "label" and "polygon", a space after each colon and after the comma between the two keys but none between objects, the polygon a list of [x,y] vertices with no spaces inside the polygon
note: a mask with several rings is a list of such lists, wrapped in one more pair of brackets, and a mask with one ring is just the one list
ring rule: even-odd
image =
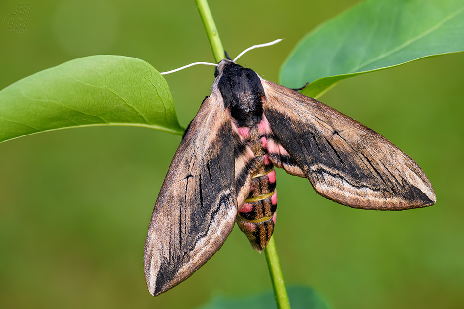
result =
[{"label": "lower section of green stem emerging below the moth's abdomen", "polygon": [[280,268],[279,256],[275,247],[274,236],[264,249],[266,261],[268,262],[269,274],[271,275],[272,287],[274,289],[275,302],[278,309],[290,309],[287,290],[285,289],[284,276]]}]

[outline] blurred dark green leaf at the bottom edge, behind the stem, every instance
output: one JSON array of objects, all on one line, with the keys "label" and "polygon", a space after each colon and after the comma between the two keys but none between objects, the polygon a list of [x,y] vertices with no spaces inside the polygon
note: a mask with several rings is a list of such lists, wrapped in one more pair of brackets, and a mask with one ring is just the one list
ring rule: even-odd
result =
[{"label": "blurred dark green leaf at the bottom edge, behind the stem", "polygon": [[[329,309],[326,301],[310,287],[289,287],[287,289],[292,309]],[[241,299],[214,298],[197,309],[276,309],[272,291]]]}]

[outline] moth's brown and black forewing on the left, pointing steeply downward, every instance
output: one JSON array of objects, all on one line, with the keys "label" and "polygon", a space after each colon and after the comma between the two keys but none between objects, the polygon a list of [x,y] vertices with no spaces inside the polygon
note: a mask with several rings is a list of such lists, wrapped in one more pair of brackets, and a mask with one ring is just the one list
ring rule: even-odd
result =
[{"label": "moth's brown and black forewing on the left, pointing steeply downward", "polygon": [[237,202],[228,113],[213,91],[174,155],[145,241],[144,271],[152,295],[188,278],[232,231]]}]

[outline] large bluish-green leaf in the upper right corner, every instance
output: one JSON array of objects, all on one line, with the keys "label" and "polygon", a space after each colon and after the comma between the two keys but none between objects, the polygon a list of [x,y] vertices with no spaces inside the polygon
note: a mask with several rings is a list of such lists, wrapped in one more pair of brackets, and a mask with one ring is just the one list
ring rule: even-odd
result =
[{"label": "large bluish-green leaf in the upper right corner", "polygon": [[464,50],[464,0],[361,2],[306,35],[280,82],[318,97],[342,79]]}]

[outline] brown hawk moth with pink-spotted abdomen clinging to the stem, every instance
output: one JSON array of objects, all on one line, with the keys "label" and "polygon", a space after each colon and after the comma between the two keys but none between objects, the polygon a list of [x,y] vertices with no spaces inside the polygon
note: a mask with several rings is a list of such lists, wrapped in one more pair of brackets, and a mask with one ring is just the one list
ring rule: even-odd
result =
[{"label": "brown hawk moth with pink-spotted abdomen clinging to the stem", "polygon": [[377,132],[232,60],[221,60],[214,75],[149,224],[144,271],[152,295],[205,264],[235,222],[255,250],[266,247],[277,210],[274,167],[354,208],[435,203],[419,165]]}]

